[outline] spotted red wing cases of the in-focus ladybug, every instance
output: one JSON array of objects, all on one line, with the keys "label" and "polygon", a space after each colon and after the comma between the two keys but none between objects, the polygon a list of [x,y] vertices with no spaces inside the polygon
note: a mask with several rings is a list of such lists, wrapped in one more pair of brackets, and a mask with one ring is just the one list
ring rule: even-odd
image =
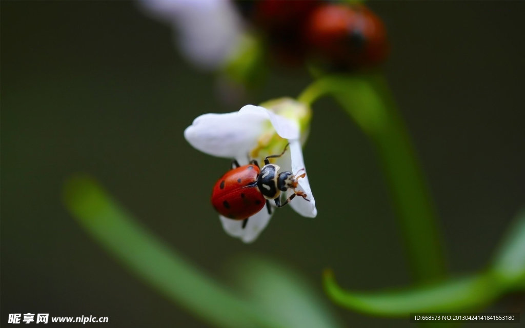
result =
[{"label": "spotted red wing cases of the in-focus ladybug", "polygon": [[212,205],[227,218],[244,220],[257,214],[266,199],[257,188],[259,167],[244,165],[226,172],[213,188]]}]

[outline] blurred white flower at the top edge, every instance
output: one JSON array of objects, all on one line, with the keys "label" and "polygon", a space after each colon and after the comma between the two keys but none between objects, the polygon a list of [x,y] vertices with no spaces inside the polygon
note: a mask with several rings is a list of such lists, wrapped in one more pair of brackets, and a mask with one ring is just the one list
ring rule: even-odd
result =
[{"label": "blurred white flower at the top edge", "polygon": [[234,54],[243,26],[228,0],[140,0],[157,19],[172,25],[183,54],[199,67],[216,69]]}]

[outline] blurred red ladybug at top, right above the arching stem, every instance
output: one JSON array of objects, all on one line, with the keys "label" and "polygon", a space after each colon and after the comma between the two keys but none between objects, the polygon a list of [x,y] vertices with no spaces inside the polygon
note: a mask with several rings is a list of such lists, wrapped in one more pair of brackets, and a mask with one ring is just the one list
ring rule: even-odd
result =
[{"label": "blurred red ladybug at top, right above the arching stem", "polygon": [[334,66],[372,66],[388,54],[383,22],[363,5],[319,6],[307,34],[312,52]]}]

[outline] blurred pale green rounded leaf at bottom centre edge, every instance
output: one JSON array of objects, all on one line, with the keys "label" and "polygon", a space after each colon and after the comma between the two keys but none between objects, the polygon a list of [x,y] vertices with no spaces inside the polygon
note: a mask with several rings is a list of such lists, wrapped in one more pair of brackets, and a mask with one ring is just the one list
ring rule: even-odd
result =
[{"label": "blurred pale green rounded leaf at bottom centre edge", "polygon": [[289,328],[342,327],[320,291],[289,268],[261,258],[245,257],[233,267],[235,282],[249,299]]}]

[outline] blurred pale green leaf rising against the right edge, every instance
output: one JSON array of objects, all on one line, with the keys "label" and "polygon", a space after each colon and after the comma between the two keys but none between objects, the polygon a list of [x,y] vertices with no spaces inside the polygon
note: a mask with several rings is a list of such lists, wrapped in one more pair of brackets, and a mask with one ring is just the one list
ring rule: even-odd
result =
[{"label": "blurred pale green leaf rising against the right edge", "polygon": [[492,261],[491,269],[502,283],[525,288],[525,210],[511,224]]}]

